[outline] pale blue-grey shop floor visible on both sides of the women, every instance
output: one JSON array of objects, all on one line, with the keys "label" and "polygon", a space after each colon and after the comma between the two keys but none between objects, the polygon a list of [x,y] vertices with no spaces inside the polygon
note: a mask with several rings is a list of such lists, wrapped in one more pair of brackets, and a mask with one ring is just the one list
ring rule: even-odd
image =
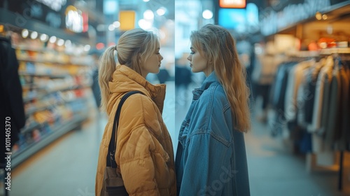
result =
[{"label": "pale blue-grey shop floor visible on both sides of the women", "polygon": [[[163,116],[176,149],[179,123],[188,104],[181,102],[184,109],[176,110],[173,102],[174,83],[169,83]],[[82,130],[66,134],[16,167],[9,195],[94,195],[99,141],[106,123],[105,116],[98,118],[92,114]],[[253,129],[246,134],[251,195],[350,195],[349,153],[344,157],[344,190],[339,192],[337,172],[307,172],[305,158],[290,153],[281,139],[269,136],[266,125],[252,119]]]}]

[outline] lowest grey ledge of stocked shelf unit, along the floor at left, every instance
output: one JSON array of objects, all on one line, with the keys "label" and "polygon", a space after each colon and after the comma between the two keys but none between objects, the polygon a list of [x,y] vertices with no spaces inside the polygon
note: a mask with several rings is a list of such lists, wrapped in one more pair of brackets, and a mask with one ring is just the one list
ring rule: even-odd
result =
[{"label": "lowest grey ledge of stocked shelf unit, along the floor at left", "polygon": [[45,135],[40,141],[35,142],[27,146],[24,150],[13,153],[13,159],[11,160],[11,167],[15,168],[20,165],[21,162],[29,158],[34,153],[41,150],[48,144],[52,143],[59,137],[62,137],[67,132],[70,132],[74,128],[78,127],[83,120],[85,120],[87,116],[80,116],[71,120],[68,123],[59,123],[56,127],[52,128],[52,132],[50,134]]}]

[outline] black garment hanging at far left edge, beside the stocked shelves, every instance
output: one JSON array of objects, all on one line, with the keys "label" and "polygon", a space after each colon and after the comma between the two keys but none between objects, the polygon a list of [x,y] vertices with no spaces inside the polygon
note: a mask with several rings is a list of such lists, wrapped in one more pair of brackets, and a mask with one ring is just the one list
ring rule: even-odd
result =
[{"label": "black garment hanging at far left edge, beside the stocked shelves", "polygon": [[[1,132],[1,169],[10,162],[5,159],[10,148],[19,140],[20,129],[25,127],[25,108],[22,85],[18,75],[18,60],[11,39],[0,34],[0,116],[3,120]],[[7,171],[7,170],[6,170]]]}]

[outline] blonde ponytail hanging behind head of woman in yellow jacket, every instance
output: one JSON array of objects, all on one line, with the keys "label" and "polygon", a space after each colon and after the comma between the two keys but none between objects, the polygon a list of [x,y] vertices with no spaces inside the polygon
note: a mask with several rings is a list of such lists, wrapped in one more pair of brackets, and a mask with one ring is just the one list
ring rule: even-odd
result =
[{"label": "blonde ponytail hanging behind head of woman in yellow jacket", "polygon": [[114,51],[116,46],[111,46],[104,51],[99,59],[99,88],[101,90],[101,109],[106,111],[109,102],[109,82],[112,80],[113,72],[116,71],[116,60]]}]

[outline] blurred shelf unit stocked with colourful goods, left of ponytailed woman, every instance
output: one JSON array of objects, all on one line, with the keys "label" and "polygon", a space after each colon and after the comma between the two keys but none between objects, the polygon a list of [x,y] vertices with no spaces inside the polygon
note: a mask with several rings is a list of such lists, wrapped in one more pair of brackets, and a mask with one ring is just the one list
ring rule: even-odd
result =
[{"label": "blurred shelf unit stocked with colourful goods, left of ponytailed woman", "polygon": [[[21,39],[12,47],[20,62],[18,73],[22,79],[25,113],[31,120],[22,128],[15,148],[18,151],[12,155],[11,166],[16,167],[87,119],[86,99],[82,97],[85,90],[90,90],[87,73],[93,65],[93,58],[75,48],[60,51],[33,44],[31,39]],[[39,112],[38,116],[36,112]],[[71,120],[62,120],[72,113]],[[41,114],[47,114],[48,119],[45,120],[48,121],[42,122]]]}]

